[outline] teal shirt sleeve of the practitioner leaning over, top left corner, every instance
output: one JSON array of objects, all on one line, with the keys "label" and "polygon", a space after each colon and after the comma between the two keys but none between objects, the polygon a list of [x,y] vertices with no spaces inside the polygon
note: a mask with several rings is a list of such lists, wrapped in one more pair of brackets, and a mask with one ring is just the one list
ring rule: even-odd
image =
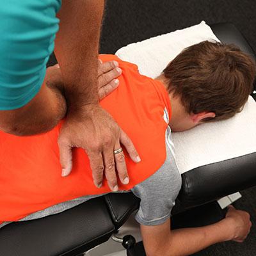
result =
[{"label": "teal shirt sleeve of the practitioner leaning over, top left corner", "polygon": [[60,7],[61,0],[1,0],[0,110],[20,108],[39,92]]}]

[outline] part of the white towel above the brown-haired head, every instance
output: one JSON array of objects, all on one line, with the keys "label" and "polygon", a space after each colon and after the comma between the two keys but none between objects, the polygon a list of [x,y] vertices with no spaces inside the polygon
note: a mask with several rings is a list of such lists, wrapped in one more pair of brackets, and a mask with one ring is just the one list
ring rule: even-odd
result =
[{"label": "part of the white towel above the brown-haired head", "polygon": [[202,21],[190,28],[129,44],[116,51],[116,55],[138,65],[141,75],[155,78],[184,48],[205,40],[220,42],[212,29]]}]

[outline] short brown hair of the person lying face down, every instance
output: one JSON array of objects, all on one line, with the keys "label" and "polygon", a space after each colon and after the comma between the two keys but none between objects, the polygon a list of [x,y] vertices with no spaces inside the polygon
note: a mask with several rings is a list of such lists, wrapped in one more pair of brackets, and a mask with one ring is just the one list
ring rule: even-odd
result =
[{"label": "short brown hair of the person lying face down", "polygon": [[201,42],[182,51],[164,69],[168,91],[188,113],[214,112],[223,120],[239,113],[253,90],[255,61],[235,45]]}]

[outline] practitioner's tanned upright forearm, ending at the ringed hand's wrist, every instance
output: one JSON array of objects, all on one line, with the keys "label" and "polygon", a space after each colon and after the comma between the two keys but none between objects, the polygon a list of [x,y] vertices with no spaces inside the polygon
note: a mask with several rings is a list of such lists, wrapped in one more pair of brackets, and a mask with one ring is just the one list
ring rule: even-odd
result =
[{"label": "practitioner's tanned upright forearm, ending at the ringed hand's wrist", "polygon": [[68,111],[98,104],[97,66],[104,1],[63,0],[55,49]]}]

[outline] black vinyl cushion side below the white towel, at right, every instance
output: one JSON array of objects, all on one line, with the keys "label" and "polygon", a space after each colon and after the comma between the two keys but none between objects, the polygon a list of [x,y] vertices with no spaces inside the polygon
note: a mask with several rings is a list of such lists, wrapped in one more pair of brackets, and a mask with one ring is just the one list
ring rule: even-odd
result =
[{"label": "black vinyl cushion side below the white towel, at right", "polygon": [[185,209],[256,185],[256,153],[200,166],[182,175],[179,201]]}]

